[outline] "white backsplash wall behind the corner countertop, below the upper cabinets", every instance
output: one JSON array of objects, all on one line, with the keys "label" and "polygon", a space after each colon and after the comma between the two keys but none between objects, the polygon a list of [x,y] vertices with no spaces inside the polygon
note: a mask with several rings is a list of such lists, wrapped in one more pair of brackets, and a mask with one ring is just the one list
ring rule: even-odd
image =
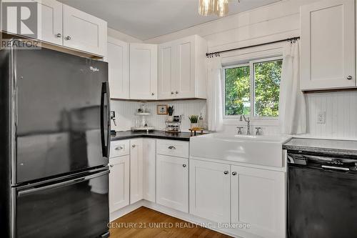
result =
[{"label": "white backsplash wall behind the corner countertop, below the upper cabinets", "polygon": [[[116,111],[117,127],[111,124],[112,129],[116,131],[126,131],[134,126],[135,120],[139,119],[136,116],[136,110],[141,107],[143,103],[134,101],[119,101],[111,100],[111,110]],[[174,105],[174,115],[182,115],[181,130],[188,132],[190,128],[190,121],[188,116],[199,115],[202,113],[204,119],[206,119],[206,100],[183,100],[183,101],[158,101],[145,103],[151,115],[147,116],[147,122],[150,127],[156,129],[165,129],[165,115],[156,114],[156,106],[160,104]]]}]

